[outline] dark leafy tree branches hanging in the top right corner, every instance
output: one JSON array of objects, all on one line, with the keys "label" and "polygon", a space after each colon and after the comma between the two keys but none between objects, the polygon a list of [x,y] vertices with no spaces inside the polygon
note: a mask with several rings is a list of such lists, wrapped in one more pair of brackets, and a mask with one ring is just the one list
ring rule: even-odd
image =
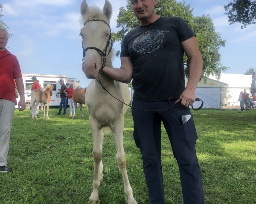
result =
[{"label": "dark leafy tree branches hanging in the top right corner", "polygon": [[224,8],[230,24],[241,23],[243,29],[247,25],[256,23],[256,0],[234,0]]}]

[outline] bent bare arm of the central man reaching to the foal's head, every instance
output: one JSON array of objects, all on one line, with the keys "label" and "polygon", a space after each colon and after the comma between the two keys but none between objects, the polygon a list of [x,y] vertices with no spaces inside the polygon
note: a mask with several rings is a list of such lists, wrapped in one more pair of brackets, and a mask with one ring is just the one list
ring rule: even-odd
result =
[{"label": "bent bare arm of the central man reaching to the foal's head", "polygon": [[112,79],[128,84],[131,82],[132,71],[133,71],[131,58],[121,57],[120,68],[112,68],[112,67],[105,66],[102,71]]}]

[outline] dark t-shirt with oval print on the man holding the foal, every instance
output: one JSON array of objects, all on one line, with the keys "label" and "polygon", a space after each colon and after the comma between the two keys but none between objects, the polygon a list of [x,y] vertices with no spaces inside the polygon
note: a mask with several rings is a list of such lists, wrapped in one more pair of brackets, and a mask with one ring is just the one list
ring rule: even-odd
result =
[{"label": "dark t-shirt with oval print on the man holding the foal", "polygon": [[125,35],[121,57],[133,63],[134,100],[159,101],[179,97],[185,89],[181,42],[195,36],[180,17],[160,17]]}]

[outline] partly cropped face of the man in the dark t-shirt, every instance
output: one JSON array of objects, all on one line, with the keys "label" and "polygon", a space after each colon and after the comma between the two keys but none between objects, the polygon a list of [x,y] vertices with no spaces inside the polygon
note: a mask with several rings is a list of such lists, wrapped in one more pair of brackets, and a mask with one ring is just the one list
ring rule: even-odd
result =
[{"label": "partly cropped face of the man in the dark t-shirt", "polygon": [[157,0],[130,0],[135,16],[140,20],[147,20],[154,14]]}]

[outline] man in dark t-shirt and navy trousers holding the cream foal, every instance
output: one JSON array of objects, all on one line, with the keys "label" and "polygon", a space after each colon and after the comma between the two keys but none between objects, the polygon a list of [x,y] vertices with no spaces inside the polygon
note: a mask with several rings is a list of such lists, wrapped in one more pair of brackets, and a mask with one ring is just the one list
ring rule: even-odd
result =
[{"label": "man in dark t-shirt and navy trousers holding the cream foal", "polygon": [[[156,5],[157,0],[131,0],[140,25],[122,41],[121,68],[105,67],[103,72],[120,82],[129,83],[133,79],[134,140],[142,154],[150,203],[166,204],[161,166],[163,122],[179,166],[184,204],[204,204],[195,153],[197,133],[188,108],[195,102],[203,60],[195,33],[186,21],[180,17],[158,16]],[[186,88],[184,51],[190,62]],[[135,108],[172,109],[147,112]]]}]

